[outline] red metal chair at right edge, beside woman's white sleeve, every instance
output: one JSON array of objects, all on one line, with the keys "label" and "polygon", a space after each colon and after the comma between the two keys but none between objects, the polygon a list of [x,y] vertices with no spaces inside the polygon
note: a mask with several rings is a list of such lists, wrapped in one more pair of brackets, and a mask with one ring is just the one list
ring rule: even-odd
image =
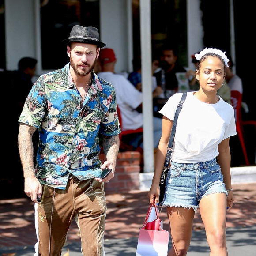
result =
[{"label": "red metal chair at right edge, beside woman's white sleeve", "polygon": [[242,113],[241,113],[241,102],[242,102],[242,94],[237,90],[231,90],[231,105],[235,111],[235,120],[236,120],[236,129],[237,135],[239,137],[242,151],[245,157],[245,164],[248,166],[250,165],[248,160],[248,155],[245,147],[245,133],[244,133],[244,126],[245,125],[254,125],[256,130],[256,121],[255,120],[242,120]]}]

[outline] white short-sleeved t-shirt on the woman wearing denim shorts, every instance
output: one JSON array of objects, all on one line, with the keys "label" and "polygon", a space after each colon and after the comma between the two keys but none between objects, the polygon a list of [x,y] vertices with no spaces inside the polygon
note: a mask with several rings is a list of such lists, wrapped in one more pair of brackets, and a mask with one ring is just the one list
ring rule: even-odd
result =
[{"label": "white short-sleeved t-shirt on the woman wearing denim shorts", "polygon": [[[174,120],[182,93],[171,96],[159,111]],[[233,107],[219,97],[216,104],[207,104],[187,93],[177,120],[172,161],[178,163],[205,162],[218,155],[218,144],[236,135]]]}]

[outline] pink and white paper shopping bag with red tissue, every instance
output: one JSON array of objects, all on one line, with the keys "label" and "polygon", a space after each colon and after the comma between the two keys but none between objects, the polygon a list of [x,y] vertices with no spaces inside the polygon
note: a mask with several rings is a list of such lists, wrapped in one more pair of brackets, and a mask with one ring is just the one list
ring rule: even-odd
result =
[{"label": "pink and white paper shopping bag with red tissue", "polygon": [[[152,221],[151,212],[156,218]],[[166,256],[168,253],[169,232],[162,229],[162,222],[158,216],[158,209],[154,203],[150,204],[143,227],[139,230],[136,256]]]}]

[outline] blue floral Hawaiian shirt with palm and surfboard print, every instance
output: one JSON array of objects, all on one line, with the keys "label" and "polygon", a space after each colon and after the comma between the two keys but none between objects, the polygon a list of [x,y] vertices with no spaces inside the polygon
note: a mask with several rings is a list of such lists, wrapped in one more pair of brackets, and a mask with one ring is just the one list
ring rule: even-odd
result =
[{"label": "blue floral Hawaiian shirt with palm and surfboard print", "polygon": [[79,180],[100,177],[99,133],[121,132],[113,86],[92,72],[83,102],[69,64],[39,77],[19,122],[39,129],[36,177],[41,184],[60,189],[66,188],[69,173]]}]

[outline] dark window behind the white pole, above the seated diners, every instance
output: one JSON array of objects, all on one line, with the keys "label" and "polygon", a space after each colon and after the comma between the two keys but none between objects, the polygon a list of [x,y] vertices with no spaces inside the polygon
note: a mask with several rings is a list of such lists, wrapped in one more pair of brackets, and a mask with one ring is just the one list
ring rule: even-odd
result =
[{"label": "dark window behind the white pole, above the seated diners", "polygon": [[[140,55],[139,1],[132,1],[133,55]],[[151,0],[152,51],[167,41],[177,44],[179,63],[187,66],[187,1]]]}]

